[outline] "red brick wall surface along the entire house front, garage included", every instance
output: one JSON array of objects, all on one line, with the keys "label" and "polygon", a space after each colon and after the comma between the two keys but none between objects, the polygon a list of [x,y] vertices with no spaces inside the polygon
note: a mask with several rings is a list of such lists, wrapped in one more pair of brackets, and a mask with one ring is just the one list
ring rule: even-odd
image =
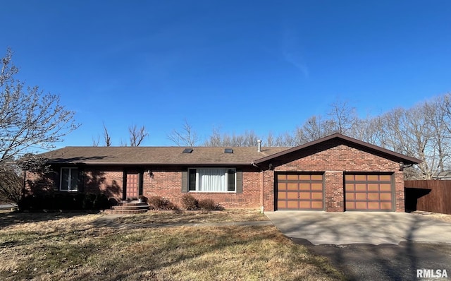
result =
[{"label": "red brick wall surface along the entire house front, garage included", "polygon": [[[225,208],[259,208],[274,210],[275,172],[323,172],[325,176],[325,210],[343,212],[345,172],[390,172],[394,174],[395,210],[404,212],[404,181],[396,161],[378,156],[368,149],[357,149],[340,140],[312,145],[300,151],[268,160],[274,167],[263,172],[255,167],[242,167],[242,193],[206,193],[190,192],[197,199],[211,198]],[[264,165],[262,165],[264,166]],[[55,167],[58,171],[59,167]],[[104,192],[107,196],[121,199],[124,186],[124,167],[89,167],[83,171],[82,191],[89,193]],[[181,207],[182,172],[187,167],[149,166],[128,169],[142,175],[142,194],[144,196],[162,196]],[[147,171],[152,172],[150,177]],[[36,175],[27,173],[27,179],[36,181]],[[55,178],[57,181],[58,179]],[[32,182],[30,181],[30,182]],[[28,183],[29,181],[27,181]],[[50,181],[47,181],[47,185]],[[30,184],[27,184],[30,186]],[[58,186],[54,183],[53,186]],[[53,190],[52,186],[52,190]],[[263,190],[263,193],[261,192]]]}]

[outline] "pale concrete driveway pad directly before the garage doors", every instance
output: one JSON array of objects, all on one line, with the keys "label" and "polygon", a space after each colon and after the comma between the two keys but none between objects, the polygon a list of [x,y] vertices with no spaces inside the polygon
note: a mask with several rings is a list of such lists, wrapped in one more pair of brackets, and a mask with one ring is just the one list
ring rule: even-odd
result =
[{"label": "pale concrete driveway pad directly before the garage doors", "polygon": [[451,243],[451,223],[411,213],[318,211],[265,212],[287,237],[311,244]]}]

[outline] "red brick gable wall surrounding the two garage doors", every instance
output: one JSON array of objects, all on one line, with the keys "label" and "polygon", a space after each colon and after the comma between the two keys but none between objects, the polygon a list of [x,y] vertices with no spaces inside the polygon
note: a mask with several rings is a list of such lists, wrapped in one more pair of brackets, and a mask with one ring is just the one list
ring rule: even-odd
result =
[{"label": "red brick gable wall surrounding the two garage doors", "polygon": [[[309,148],[283,155],[271,161],[272,171],[266,171],[265,194],[274,194],[274,172],[324,172],[325,210],[342,212],[344,203],[344,172],[390,172],[394,175],[395,210],[404,212],[404,179],[399,162],[381,155],[354,148],[340,140],[330,140]],[[272,179],[272,180],[271,180]],[[265,209],[273,210],[274,201],[265,199]],[[274,198],[274,196],[272,196]]]}]

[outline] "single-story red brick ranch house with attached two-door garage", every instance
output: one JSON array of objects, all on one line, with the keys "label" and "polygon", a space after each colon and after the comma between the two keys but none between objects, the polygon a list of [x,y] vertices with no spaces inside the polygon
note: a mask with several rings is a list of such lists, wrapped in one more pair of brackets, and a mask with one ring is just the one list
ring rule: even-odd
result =
[{"label": "single-story red brick ranch house with attached two-door garage", "polygon": [[27,188],[328,212],[404,212],[402,167],[420,162],[338,133],[295,148],[66,147],[42,157],[53,176],[25,172]]}]

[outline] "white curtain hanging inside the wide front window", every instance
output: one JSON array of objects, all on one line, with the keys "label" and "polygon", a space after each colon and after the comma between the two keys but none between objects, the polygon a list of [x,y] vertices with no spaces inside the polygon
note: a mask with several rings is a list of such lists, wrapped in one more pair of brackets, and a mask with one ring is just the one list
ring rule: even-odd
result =
[{"label": "white curtain hanging inside the wide front window", "polygon": [[197,169],[199,191],[227,191],[226,169]]}]

